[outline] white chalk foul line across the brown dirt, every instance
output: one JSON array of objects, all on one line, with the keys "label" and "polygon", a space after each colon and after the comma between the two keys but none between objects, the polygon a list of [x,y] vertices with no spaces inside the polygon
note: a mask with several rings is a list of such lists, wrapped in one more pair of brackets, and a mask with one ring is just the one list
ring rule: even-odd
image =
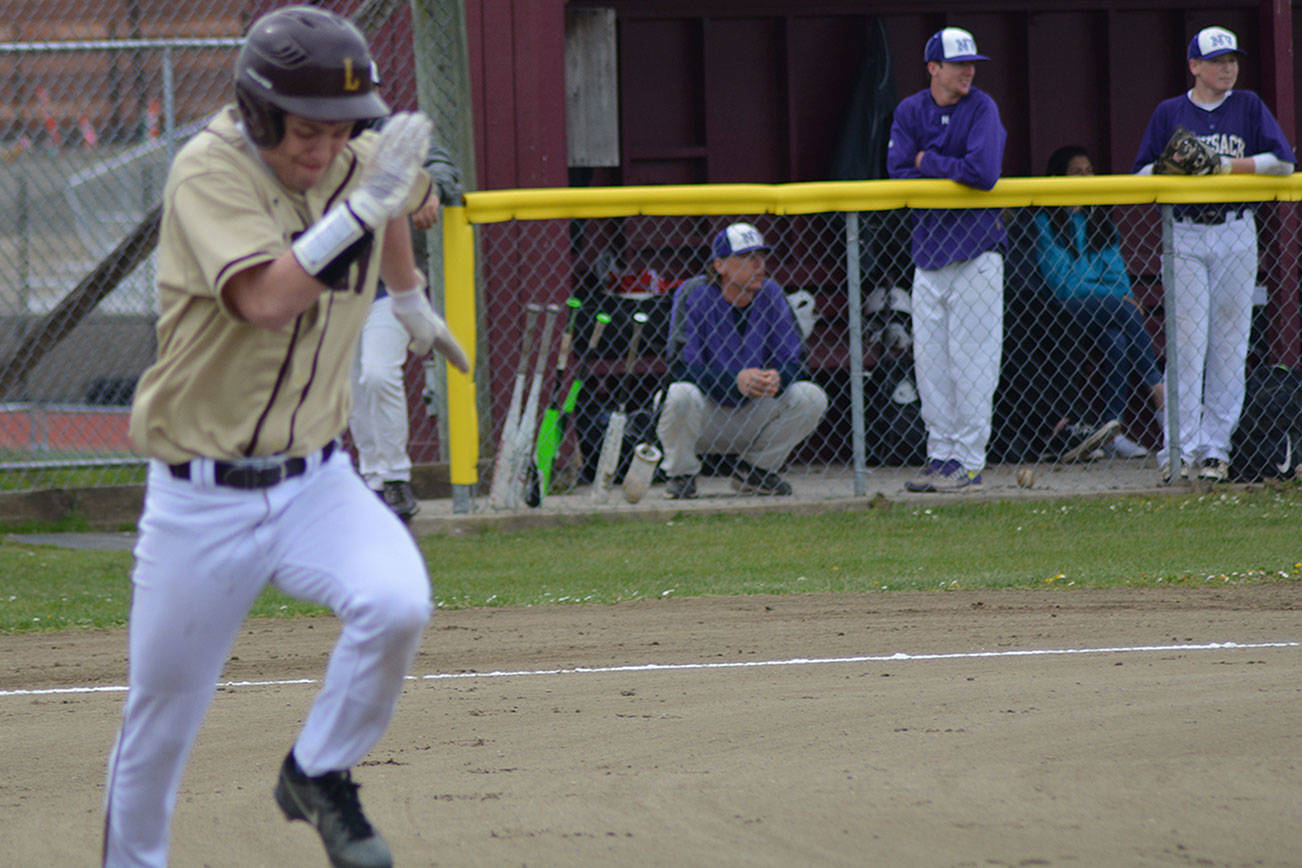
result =
[{"label": "white chalk foul line across the brown dirt", "polygon": [[[695,669],[750,669],[756,666],[825,666],[836,664],[863,662],[911,662],[926,660],[976,660],[982,657],[1053,657],[1065,655],[1134,655],[1161,653],[1170,651],[1251,651],[1254,648],[1298,648],[1302,642],[1208,642],[1197,645],[1118,645],[1112,648],[1027,648],[1013,651],[956,651],[948,653],[906,655],[862,655],[855,657],[789,657],[786,660],[746,660],[708,664],[628,664],[624,666],[572,666],[568,669],[495,669],[492,671],[445,671],[430,675],[408,675],[408,681],[447,681],[452,678],[531,678],[538,675],[600,675],[621,671],[681,671]],[[315,685],[319,678],[294,678],[288,681],[227,681],[217,683],[225,687],[284,687],[293,685]],[[126,691],[124,685],[103,687],[48,687],[42,690],[0,690],[4,696],[55,696],[60,694],[117,694]]]}]

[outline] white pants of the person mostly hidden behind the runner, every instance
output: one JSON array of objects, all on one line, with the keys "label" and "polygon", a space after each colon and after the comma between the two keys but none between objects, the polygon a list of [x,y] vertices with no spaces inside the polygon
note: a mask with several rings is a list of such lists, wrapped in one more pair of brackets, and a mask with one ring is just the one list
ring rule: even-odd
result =
[{"label": "white pants of the person mostly hidden behind the runner", "polygon": [[402,380],[410,337],[393,315],[393,299],[375,299],[353,362],[353,413],[348,419],[362,479],[372,491],[411,480],[408,402]]}]

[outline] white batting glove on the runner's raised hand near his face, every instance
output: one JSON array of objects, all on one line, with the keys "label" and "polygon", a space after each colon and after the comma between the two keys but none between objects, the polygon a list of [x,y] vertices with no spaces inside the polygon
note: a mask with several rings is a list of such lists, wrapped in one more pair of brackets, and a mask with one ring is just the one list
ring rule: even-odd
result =
[{"label": "white batting glove on the runner's raised hand near his face", "polygon": [[434,124],[421,112],[398,112],[384,122],[348,207],[371,230],[402,216],[421,163],[430,152]]}]

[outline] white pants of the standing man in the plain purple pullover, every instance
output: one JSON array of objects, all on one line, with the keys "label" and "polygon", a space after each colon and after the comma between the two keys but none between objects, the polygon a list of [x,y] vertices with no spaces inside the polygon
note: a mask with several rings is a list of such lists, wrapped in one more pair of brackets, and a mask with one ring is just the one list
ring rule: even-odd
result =
[{"label": "white pants of the standing man in the plain purple pullover", "polygon": [[990,251],[913,276],[913,360],[927,457],[986,466],[1004,345],[1004,256]]}]

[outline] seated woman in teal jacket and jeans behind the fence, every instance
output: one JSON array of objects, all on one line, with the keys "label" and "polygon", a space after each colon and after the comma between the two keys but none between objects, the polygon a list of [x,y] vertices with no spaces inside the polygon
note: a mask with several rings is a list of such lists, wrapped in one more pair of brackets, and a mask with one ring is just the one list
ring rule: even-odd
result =
[{"label": "seated woman in teal jacket and jeans behind the fence", "polygon": [[[1085,148],[1068,144],[1049,156],[1047,174],[1094,174]],[[1036,258],[1040,275],[1064,311],[1103,355],[1103,419],[1118,424],[1125,411],[1131,376],[1148,388],[1161,410],[1163,385],[1152,338],[1143,324],[1139,303],[1130,294],[1130,277],[1121,258],[1121,237],[1105,206],[1044,208],[1035,216]],[[1118,458],[1141,458],[1148,452],[1118,432],[1103,450]]]}]

